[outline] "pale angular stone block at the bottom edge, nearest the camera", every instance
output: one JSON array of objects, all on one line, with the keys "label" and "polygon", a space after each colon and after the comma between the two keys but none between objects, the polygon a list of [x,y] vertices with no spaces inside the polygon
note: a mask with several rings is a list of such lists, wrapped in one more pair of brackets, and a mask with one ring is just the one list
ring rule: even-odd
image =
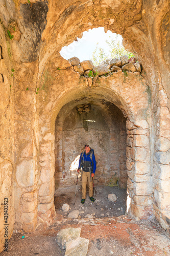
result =
[{"label": "pale angular stone block at the bottom edge, nearest the camera", "polygon": [[88,251],[89,240],[77,238],[66,242],[65,256],[86,256]]}]

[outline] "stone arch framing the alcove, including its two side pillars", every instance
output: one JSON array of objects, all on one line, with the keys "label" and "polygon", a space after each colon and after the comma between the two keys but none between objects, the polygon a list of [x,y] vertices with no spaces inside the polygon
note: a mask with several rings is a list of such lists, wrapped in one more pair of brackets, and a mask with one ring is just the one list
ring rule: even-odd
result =
[{"label": "stone arch framing the alcove, including its two side pillars", "polygon": [[[70,73],[74,77],[71,77]],[[128,193],[131,199],[130,210],[131,214],[138,219],[149,218],[152,215],[152,180],[149,164],[150,95],[144,79],[142,77],[136,79],[135,75],[129,72],[127,82],[124,74],[119,72],[113,77],[99,78],[99,82],[90,88],[86,79],[66,69],[61,71],[61,80],[61,88],[59,79],[58,83],[51,84],[50,91],[45,89],[46,98],[50,96],[50,101],[45,102],[45,104],[41,101],[40,105],[39,173],[41,174],[41,184],[38,190],[39,221],[44,220],[52,223],[49,215],[46,218],[46,212],[48,211],[51,211],[52,217],[54,216],[54,185],[51,184],[54,184],[54,129],[56,117],[63,105],[81,97],[101,98],[110,101],[118,106],[124,116],[129,119],[127,121],[127,169],[129,176]],[[126,91],[124,90],[125,84]],[[132,100],[134,95],[136,97],[135,102]],[[43,95],[41,96],[43,97]],[[49,168],[50,172],[48,172]],[[48,181],[43,178],[46,177],[46,173],[48,173]]]}]

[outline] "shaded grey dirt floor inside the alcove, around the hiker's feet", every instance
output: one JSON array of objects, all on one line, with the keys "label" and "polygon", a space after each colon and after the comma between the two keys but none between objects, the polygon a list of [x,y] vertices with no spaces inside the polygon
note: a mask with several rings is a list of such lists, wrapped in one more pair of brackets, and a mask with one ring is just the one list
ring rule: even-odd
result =
[{"label": "shaded grey dirt floor inside the alcove, around the hiker's feet", "polygon": [[[88,187],[86,191],[85,203],[81,203],[82,194],[81,186],[77,186],[77,192],[75,186],[60,188],[55,191],[55,207],[56,211],[63,216],[68,216],[69,212],[72,210],[79,210],[81,218],[84,218],[86,214],[92,214],[95,218],[104,217],[117,217],[125,215],[126,212],[126,201],[127,193],[126,189],[118,189],[118,187],[110,186],[95,186],[95,202],[91,202],[88,196]],[[75,200],[76,193],[76,200]],[[117,200],[115,202],[110,202],[108,200],[109,194],[115,194]],[[94,197],[94,196],[93,196]],[[68,212],[63,212],[62,205],[69,204],[70,210]],[[74,204],[75,203],[75,204]]]}]

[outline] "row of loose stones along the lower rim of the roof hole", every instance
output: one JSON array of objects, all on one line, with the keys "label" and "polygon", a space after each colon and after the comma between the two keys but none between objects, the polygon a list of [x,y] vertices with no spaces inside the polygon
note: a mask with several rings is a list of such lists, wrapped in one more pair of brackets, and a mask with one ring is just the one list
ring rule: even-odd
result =
[{"label": "row of loose stones along the lower rim of the roof hole", "polygon": [[80,62],[79,58],[72,57],[68,59],[68,61],[71,63],[71,66],[73,66],[75,72],[78,72],[81,76],[85,76],[86,78],[108,76],[118,71],[141,72],[140,63],[136,62],[134,57],[129,59],[127,55],[104,61],[102,65],[96,67],[94,67],[91,60],[83,60]]}]

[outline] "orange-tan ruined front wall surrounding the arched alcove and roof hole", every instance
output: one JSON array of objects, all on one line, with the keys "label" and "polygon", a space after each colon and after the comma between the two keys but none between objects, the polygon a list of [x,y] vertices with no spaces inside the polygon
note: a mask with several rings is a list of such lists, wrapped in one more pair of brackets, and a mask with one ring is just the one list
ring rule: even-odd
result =
[{"label": "orange-tan ruined front wall surrounding the arched alcove and roof hole", "polygon": [[[3,51],[1,148],[4,152],[0,182],[1,200],[4,194],[10,198],[9,235],[14,222],[13,198],[17,230],[31,231],[41,222],[52,223],[55,120],[63,105],[81,97],[107,100],[130,121],[127,123],[130,212],[137,218],[151,216],[154,185],[154,215],[168,230],[169,1],[30,2],[3,0],[0,6],[4,25],[0,44]],[[63,46],[94,27],[122,34],[126,49],[142,64],[141,76],[127,72],[125,77],[122,71],[117,71],[112,76],[96,79],[93,84],[93,78],[87,80],[80,76],[70,62],[60,57]],[[11,39],[7,30],[11,37],[13,35]],[[15,70],[13,76],[12,69]],[[140,158],[143,151],[147,152],[147,161]],[[141,173],[143,165],[144,173]],[[3,169],[7,176],[2,175]],[[1,224],[2,221],[1,208]],[[0,232],[2,244],[2,229]]]}]

